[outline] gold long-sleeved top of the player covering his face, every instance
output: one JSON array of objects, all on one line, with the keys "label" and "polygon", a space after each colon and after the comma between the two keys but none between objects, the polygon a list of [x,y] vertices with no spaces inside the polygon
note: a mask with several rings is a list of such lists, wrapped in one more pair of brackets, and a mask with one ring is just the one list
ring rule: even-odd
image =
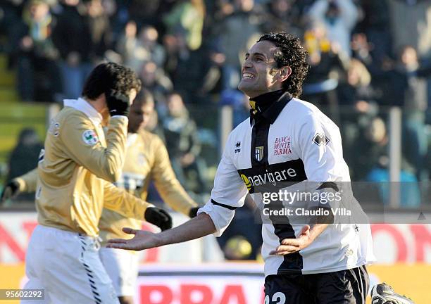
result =
[{"label": "gold long-sleeved top of the player covering his face", "polygon": [[[126,217],[144,217],[150,204],[112,184],[123,167],[126,136],[127,118],[111,118],[105,137],[102,117],[87,101],[65,101],[65,108],[51,122],[39,156],[39,224],[97,236],[103,208]],[[26,175],[20,188],[34,174]]]}]

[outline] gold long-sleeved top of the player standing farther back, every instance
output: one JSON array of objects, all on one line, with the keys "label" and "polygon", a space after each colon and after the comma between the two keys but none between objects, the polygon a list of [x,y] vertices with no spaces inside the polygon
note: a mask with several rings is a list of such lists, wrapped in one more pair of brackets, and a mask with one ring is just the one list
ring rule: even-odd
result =
[{"label": "gold long-sleeved top of the player standing farther back", "polygon": [[[15,180],[20,184],[20,191],[35,191],[36,179],[37,170],[32,170]],[[168,151],[161,139],[144,130],[129,134],[123,175],[116,184],[145,200],[151,180],[154,181],[163,201],[173,210],[188,215],[189,210],[197,206],[175,177]],[[131,236],[123,233],[121,229],[140,229],[141,225],[140,220],[105,208],[99,222],[100,236],[103,243],[113,238],[130,239]]]}]

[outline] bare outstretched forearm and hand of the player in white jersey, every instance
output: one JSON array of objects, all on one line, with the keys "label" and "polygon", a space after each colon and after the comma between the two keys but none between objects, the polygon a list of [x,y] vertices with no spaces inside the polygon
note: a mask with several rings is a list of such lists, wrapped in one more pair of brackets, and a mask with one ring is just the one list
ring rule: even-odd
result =
[{"label": "bare outstretched forearm and hand of the player in white jersey", "polygon": [[142,230],[123,228],[127,234],[135,234],[133,239],[111,239],[108,240],[108,248],[120,248],[134,251],[160,247],[171,243],[181,243],[192,239],[199,239],[202,236],[215,232],[215,226],[211,217],[206,213],[192,218],[188,222],[173,229],[154,234]]}]

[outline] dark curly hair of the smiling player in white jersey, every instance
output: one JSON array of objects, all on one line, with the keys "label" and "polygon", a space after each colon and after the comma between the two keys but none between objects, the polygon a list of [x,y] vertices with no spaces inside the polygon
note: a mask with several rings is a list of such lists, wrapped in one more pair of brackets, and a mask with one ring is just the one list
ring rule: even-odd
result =
[{"label": "dark curly hair of the smiling player in white jersey", "polygon": [[282,87],[285,91],[288,91],[294,97],[301,96],[302,83],[304,82],[310,65],[307,63],[308,53],[298,37],[294,37],[292,34],[286,32],[276,32],[263,34],[257,42],[269,41],[275,44],[279,51],[274,55],[275,61],[277,62],[277,68],[288,65],[292,68],[292,74],[282,82]]}]

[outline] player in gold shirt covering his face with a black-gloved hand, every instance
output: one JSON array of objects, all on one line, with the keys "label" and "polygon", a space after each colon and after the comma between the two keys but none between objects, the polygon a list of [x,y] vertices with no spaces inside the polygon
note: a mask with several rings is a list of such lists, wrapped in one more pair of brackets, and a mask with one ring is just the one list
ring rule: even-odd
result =
[{"label": "player in gold shirt covering his face with a black-gloved hand", "polygon": [[151,214],[153,222],[170,227],[169,215],[113,185],[124,165],[127,115],[139,89],[132,70],[102,63],[82,97],[65,100],[51,122],[37,167],[39,225],[25,261],[25,289],[44,289],[43,303],[118,303],[99,258],[103,208],[137,219]]}]

